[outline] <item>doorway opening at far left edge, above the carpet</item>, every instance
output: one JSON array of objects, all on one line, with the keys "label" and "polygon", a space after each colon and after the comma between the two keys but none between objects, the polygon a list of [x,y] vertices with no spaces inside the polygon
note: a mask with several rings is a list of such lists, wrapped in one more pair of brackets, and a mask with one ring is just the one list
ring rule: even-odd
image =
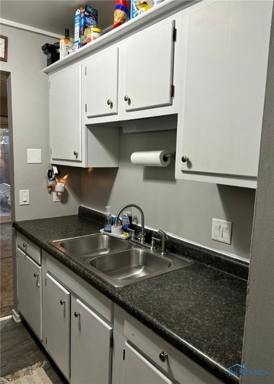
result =
[{"label": "doorway opening at far left edge, above the carpet", "polygon": [[11,222],[7,75],[0,73],[0,223]]}]

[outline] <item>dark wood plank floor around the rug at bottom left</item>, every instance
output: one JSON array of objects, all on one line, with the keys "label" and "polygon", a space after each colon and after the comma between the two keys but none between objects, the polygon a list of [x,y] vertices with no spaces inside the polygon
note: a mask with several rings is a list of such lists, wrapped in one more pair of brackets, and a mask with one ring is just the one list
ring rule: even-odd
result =
[{"label": "dark wood plank floor around the rug at bottom left", "polygon": [[68,384],[37,337],[25,322],[15,323],[11,318],[0,321],[0,376],[46,360],[43,367],[53,384]]}]

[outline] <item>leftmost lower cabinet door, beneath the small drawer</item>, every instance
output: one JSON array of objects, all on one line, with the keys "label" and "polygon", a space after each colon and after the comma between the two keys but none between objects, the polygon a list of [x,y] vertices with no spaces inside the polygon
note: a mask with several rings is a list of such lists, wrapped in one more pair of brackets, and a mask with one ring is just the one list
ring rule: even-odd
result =
[{"label": "leftmost lower cabinet door, beneath the small drawer", "polygon": [[17,248],[18,310],[42,339],[41,267]]}]

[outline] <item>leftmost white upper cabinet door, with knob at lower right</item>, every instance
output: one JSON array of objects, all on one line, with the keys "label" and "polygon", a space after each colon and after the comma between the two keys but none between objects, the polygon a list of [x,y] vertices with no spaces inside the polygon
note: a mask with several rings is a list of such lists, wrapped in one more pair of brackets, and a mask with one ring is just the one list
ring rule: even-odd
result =
[{"label": "leftmost white upper cabinet door, with knob at lower right", "polygon": [[81,65],[50,75],[49,82],[51,158],[81,161]]}]

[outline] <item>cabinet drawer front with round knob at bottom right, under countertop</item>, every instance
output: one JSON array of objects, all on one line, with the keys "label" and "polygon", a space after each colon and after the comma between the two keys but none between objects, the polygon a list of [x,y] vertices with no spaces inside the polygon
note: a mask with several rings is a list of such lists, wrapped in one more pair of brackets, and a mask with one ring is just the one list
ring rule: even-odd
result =
[{"label": "cabinet drawer front with round knob at bottom right, under countertop", "polygon": [[[169,378],[181,384],[220,384],[220,380],[133,317],[124,321],[124,336]],[[160,353],[166,353],[165,361]]]}]

